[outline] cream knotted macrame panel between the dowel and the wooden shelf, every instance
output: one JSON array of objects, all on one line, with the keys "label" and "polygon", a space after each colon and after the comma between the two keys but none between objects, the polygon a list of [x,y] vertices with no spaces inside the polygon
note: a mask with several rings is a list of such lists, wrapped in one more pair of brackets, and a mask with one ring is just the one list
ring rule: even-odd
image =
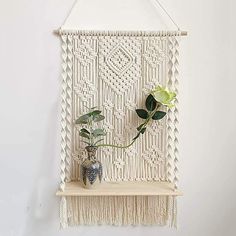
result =
[{"label": "cream knotted macrame panel between the dowel and the wooden shelf", "polygon": [[[157,84],[177,91],[178,37],[165,34],[62,34],[62,178],[78,180],[86,158],[75,120],[89,107],[105,115],[104,143],[128,144],[142,120],[147,94]],[[163,107],[163,110],[165,108]],[[128,149],[100,148],[104,181],[176,181],[177,107],[153,121]],[[64,129],[64,130],[63,130]]]}]

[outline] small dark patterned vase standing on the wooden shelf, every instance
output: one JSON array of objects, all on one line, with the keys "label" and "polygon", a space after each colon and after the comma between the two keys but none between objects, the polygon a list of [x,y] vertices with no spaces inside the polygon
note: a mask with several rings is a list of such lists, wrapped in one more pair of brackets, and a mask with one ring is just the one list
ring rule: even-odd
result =
[{"label": "small dark patterned vase standing on the wooden shelf", "polygon": [[97,147],[87,146],[88,158],[81,164],[81,180],[85,188],[93,188],[102,181],[102,164],[96,160]]}]

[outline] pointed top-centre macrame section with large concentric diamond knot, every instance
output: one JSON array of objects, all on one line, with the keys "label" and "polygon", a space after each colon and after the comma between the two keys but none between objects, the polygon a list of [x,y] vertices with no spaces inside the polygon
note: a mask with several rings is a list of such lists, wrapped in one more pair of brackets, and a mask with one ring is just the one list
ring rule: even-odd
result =
[{"label": "pointed top-centre macrame section with large concentric diamond knot", "polygon": [[140,41],[112,37],[99,40],[99,77],[117,95],[135,88],[141,78]]}]

